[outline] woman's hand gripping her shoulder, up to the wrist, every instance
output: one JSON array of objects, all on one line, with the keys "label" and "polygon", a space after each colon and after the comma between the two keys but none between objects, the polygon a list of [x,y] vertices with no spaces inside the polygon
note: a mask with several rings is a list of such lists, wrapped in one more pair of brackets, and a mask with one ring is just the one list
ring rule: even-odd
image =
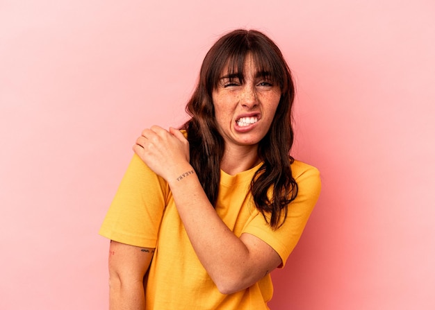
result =
[{"label": "woman's hand gripping her shoulder, up to the wrist", "polygon": [[142,131],[133,146],[134,152],[167,182],[191,169],[189,142],[180,130],[169,131],[152,126]]}]

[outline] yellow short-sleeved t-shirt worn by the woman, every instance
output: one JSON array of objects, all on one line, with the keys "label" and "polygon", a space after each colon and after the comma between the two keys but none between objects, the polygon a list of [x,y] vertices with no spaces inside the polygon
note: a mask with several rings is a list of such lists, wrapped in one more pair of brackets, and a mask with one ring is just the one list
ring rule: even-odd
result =
[{"label": "yellow short-sleeved t-shirt worn by the woman", "polygon": [[[299,187],[297,198],[288,206],[284,225],[272,230],[249,191],[260,166],[237,175],[221,171],[215,209],[236,236],[249,233],[268,243],[284,266],[318,200],[320,175],[313,166],[293,162],[293,178]],[[99,233],[121,243],[156,248],[145,294],[147,310],[268,309],[273,293],[270,275],[231,295],[217,290],[190,244],[167,183],[137,155],[131,160]]]}]

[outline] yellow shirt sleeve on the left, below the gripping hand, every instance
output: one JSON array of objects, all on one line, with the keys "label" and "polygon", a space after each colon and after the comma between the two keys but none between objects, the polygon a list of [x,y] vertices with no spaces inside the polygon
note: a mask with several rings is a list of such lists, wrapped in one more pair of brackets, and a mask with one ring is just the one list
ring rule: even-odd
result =
[{"label": "yellow shirt sleeve on the left, below the gripping hand", "polygon": [[131,246],[155,248],[168,192],[165,180],[133,155],[99,234]]}]

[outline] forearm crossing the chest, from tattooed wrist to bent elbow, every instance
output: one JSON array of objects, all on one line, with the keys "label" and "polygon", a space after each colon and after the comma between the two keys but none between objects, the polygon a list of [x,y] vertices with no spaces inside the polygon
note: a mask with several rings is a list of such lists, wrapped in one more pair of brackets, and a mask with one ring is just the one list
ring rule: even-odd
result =
[{"label": "forearm crossing the chest, from tattooed wrist to bent elbow", "polygon": [[[192,171],[192,168],[185,166],[180,171]],[[231,282],[237,282],[240,289],[256,282],[258,279],[251,278],[247,246],[217,216],[197,175],[191,173],[167,181],[190,242],[215,284],[227,291],[227,286],[233,286]]]}]

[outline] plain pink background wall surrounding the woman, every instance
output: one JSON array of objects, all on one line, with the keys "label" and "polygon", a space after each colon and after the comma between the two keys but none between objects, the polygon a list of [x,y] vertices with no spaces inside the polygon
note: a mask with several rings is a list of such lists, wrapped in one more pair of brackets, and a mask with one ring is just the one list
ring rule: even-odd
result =
[{"label": "plain pink background wall surrounding the woman", "polygon": [[[149,4],[151,3],[151,4]],[[323,190],[272,309],[435,309],[435,2],[0,1],[0,309],[107,309],[97,234],[142,128],[258,28]]]}]

